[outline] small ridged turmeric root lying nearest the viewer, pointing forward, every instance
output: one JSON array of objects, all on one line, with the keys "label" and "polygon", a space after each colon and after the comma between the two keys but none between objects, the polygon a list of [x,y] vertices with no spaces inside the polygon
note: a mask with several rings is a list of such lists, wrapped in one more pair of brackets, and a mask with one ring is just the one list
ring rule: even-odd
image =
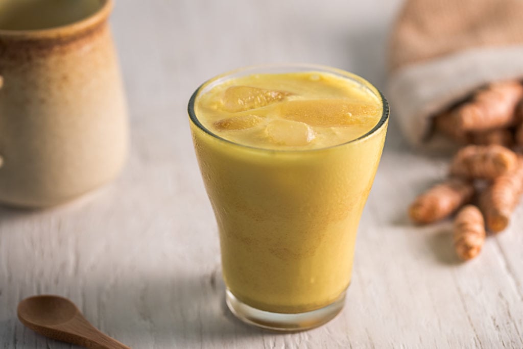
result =
[{"label": "small ridged turmeric root lying nearest the viewer, pointing forward", "polygon": [[454,219],[454,249],[462,260],[469,260],[480,253],[485,242],[485,222],[479,208],[467,205]]}]

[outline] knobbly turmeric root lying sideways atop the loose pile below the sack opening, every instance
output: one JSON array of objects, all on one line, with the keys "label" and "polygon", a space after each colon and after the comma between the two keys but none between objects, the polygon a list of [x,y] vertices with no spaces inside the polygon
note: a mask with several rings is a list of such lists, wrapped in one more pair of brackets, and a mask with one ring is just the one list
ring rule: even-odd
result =
[{"label": "knobbly turmeric root lying sideways atop the loose pile below the sack opening", "polygon": [[469,145],[454,156],[450,173],[465,178],[494,179],[516,166],[516,154],[501,145]]}]

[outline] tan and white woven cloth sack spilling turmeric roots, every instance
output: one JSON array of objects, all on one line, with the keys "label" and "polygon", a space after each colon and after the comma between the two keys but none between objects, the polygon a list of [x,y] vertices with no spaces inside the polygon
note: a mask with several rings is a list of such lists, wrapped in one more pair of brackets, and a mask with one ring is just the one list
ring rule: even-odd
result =
[{"label": "tan and white woven cloth sack spilling turmeric roots", "polygon": [[412,144],[475,89],[523,77],[523,0],[407,0],[389,47],[387,95]]}]

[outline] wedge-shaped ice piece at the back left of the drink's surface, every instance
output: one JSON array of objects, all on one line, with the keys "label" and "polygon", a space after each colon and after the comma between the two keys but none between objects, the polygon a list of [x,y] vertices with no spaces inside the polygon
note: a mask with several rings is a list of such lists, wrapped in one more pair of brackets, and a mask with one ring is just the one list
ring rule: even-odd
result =
[{"label": "wedge-shaped ice piece at the back left of the drink's surface", "polygon": [[223,109],[238,112],[268,106],[289,96],[290,92],[272,91],[251,86],[231,86],[225,90]]}]

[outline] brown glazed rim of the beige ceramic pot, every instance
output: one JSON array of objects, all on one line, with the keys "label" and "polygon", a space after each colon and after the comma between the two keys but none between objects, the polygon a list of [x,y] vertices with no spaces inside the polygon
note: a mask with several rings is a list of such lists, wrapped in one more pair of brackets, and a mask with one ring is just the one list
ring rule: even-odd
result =
[{"label": "brown glazed rim of the beige ceramic pot", "polygon": [[59,39],[92,29],[107,19],[114,7],[114,0],[99,0],[99,2],[101,5],[94,13],[75,22],[43,29],[0,29],[0,38],[19,40]]}]

